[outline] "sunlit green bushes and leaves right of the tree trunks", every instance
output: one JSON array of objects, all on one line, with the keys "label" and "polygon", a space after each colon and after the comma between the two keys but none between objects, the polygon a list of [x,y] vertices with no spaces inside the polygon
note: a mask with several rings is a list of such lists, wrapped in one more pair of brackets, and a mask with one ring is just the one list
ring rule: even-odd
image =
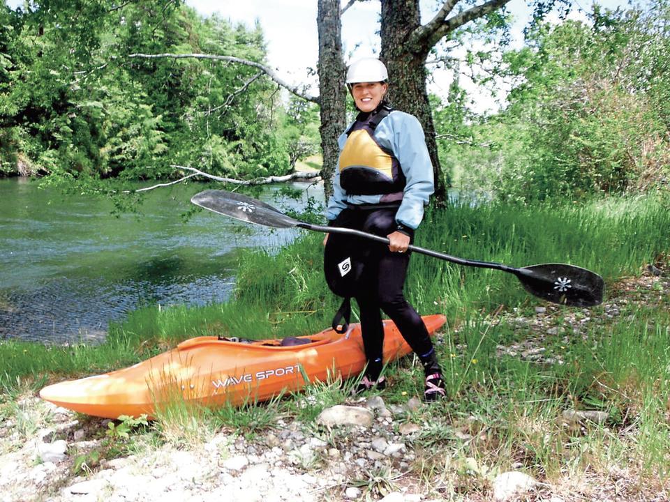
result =
[{"label": "sunlit green bushes and leaves right of the tree trunks", "polygon": [[657,0],[537,24],[504,55],[516,80],[507,108],[463,119],[466,141],[447,139],[459,185],[514,201],[667,187],[669,19],[670,3]]}]

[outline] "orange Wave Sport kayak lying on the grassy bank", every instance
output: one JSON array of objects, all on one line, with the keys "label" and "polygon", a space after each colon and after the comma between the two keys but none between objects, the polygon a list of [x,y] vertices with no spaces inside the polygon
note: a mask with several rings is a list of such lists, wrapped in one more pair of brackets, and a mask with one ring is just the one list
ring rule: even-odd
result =
[{"label": "orange Wave Sport kayak lying on the grassy bank", "polygon": [[[445,324],[443,315],[423,317],[431,335]],[[384,360],[411,351],[392,321],[384,321]],[[239,342],[197,337],[142,363],[40,391],[42,399],[80,413],[118,418],[155,417],[170,403],[222,406],[260,402],[301,390],[308,381],[346,379],[365,365],[359,324],[348,333],[332,329],[284,340]]]}]

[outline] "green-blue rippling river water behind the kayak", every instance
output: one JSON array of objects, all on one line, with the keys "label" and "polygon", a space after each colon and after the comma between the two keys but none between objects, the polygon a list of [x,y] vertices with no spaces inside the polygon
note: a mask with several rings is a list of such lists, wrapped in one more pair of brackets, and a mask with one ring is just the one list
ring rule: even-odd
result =
[{"label": "green-blue rippling river water behind the kayak", "polygon": [[[306,189],[308,184],[296,183]],[[200,211],[207,185],[148,192],[140,215],[112,215],[107,199],[64,196],[23,178],[0,179],[0,340],[99,342],[110,321],[142,305],[226,301],[237,253],[278,248],[293,230],[248,225]],[[287,208],[268,187],[260,199]],[[304,192],[306,193],[306,192]],[[313,185],[309,195],[322,190]]]}]

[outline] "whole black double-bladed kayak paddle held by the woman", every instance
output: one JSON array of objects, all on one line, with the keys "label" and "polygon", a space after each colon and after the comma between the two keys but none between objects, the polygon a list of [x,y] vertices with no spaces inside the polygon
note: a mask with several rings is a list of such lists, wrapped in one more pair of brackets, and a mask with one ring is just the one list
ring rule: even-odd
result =
[{"label": "whole black double-bladed kayak paddle held by the woman", "polygon": [[[224,190],[205,190],[191,197],[191,202],[214,213],[230,216],[244,222],[255,223],[265,227],[275,228],[304,228],[313,231],[325,232],[326,234],[346,234],[377,241],[389,243],[386,237],[368,234],[364,231],[341,228],[325,227],[301,222],[289,215],[281,213],[276,208],[252,197]],[[495,268],[503,272],[516,275],[523,289],[528,293],[538,296],[546,301],[570,305],[574,307],[592,307],[602,303],[604,294],[604,281],[600,275],[581,268],[567,264],[542,264],[515,268],[489,261],[470,260],[454,257],[429,249],[410,245],[409,251],[427,254],[428,256],[451,261],[452,263],[479,267]]]}]

